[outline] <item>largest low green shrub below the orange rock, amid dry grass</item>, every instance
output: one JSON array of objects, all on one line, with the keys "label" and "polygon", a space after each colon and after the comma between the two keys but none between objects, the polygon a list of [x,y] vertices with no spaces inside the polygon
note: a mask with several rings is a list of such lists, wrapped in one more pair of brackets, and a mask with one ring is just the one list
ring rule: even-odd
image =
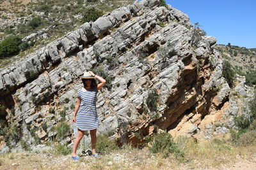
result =
[{"label": "largest low green shrub below the orange rock, amid dry grass", "polygon": [[177,158],[184,157],[184,150],[166,132],[156,134],[152,139],[151,145],[149,150],[152,153],[162,153],[164,158],[168,157],[170,153],[174,153]]}]

